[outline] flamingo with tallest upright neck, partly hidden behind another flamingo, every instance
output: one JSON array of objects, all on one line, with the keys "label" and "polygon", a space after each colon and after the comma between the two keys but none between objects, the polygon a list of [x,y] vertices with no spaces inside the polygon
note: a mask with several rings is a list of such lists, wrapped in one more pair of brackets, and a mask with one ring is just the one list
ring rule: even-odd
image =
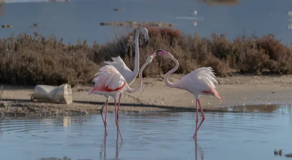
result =
[{"label": "flamingo with tallest upright neck, partly hidden behind another flamingo", "polygon": [[[136,77],[138,76],[138,72],[139,72],[139,34],[140,32],[144,35],[145,37],[145,43],[146,45],[148,44],[149,41],[149,36],[148,36],[148,30],[144,27],[140,28],[136,34],[135,34],[135,66],[134,66],[134,71],[131,71],[127,65],[125,64],[125,62],[123,61],[123,59],[120,56],[117,57],[111,57],[111,59],[113,60],[111,61],[105,61],[105,64],[111,65],[113,67],[115,67],[117,69],[117,71],[119,71],[123,77],[125,77],[127,84],[130,85],[132,84]],[[121,102],[121,96],[122,93],[119,95],[119,102],[118,102],[118,110],[120,109],[120,102]],[[100,113],[103,113],[103,109],[105,107],[105,104],[103,105],[103,107],[101,107]],[[119,119],[119,115],[118,115],[118,119]]]}]

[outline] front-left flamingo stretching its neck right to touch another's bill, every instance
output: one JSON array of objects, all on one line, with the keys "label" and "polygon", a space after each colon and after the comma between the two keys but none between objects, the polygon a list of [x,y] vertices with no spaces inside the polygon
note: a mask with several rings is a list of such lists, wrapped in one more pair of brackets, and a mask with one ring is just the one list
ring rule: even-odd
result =
[{"label": "front-left flamingo stretching its neck right to touch another's bill", "polygon": [[[106,113],[105,118],[103,118],[103,113],[101,113],[104,126],[105,126],[105,139],[107,137],[107,112],[110,96],[112,96],[114,100],[114,111],[115,111],[115,123],[117,125],[117,131],[121,136],[121,140],[123,142],[123,137],[119,128],[118,121],[118,109],[116,105],[116,99],[118,95],[121,95],[123,91],[128,91],[130,93],[138,91],[142,87],[142,72],[145,67],[152,61],[154,56],[150,55],[146,59],[146,62],[141,67],[139,71],[138,85],[135,88],[130,88],[128,86],[126,78],[114,67],[111,65],[105,65],[99,69],[99,71],[94,75],[92,82],[95,83],[95,86],[91,91],[88,92],[90,94],[100,94],[106,97]],[[117,138],[118,138],[117,133]]]}]

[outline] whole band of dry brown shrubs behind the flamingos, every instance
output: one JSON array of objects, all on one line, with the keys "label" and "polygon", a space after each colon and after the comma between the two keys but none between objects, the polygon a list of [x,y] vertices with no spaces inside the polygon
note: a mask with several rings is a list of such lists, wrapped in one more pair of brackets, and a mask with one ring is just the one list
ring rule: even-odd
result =
[{"label": "whole band of dry brown shrubs behind the flamingos", "polygon": [[[292,73],[292,48],[273,35],[262,37],[238,36],[233,40],[225,35],[211,38],[183,35],[170,28],[148,28],[150,41],[140,47],[140,67],[146,57],[163,49],[180,62],[176,73],[188,73],[198,67],[211,66],[218,76],[230,71]],[[91,83],[102,62],[120,55],[131,70],[134,68],[133,33],[111,43],[89,46],[86,40],[77,44],[63,44],[54,36],[21,34],[0,39],[0,83],[12,85],[60,85]],[[142,35],[140,37],[143,44]],[[174,63],[157,56],[149,64],[144,76],[159,76],[174,67]]]}]

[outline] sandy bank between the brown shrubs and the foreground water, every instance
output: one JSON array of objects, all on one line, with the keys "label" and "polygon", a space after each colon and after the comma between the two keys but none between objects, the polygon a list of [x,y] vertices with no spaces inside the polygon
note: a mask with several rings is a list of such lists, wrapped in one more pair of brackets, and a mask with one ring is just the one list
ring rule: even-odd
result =
[{"label": "sandy bank between the brown shrubs and the foreground water", "polygon": [[[171,75],[170,81],[177,81],[182,75]],[[204,111],[227,111],[226,106],[253,104],[292,103],[292,76],[250,76],[235,75],[217,78],[216,85],[222,102],[216,97],[202,95],[200,98]],[[135,86],[133,83],[130,87]],[[99,113],[105,101],[104,96],[87,95],[92,86],[75,86],[73,104],[49,104],[29,102],[34,87],[4,86],[1,94],[0,113],[4,115],[74,115]],[[172,89],[161,78],[143,78],[142,88],[135,93],[123,93],[121,112],[143,111],[195,111],[193,94]],[[109,112],[114,111],[110,99]]]}]

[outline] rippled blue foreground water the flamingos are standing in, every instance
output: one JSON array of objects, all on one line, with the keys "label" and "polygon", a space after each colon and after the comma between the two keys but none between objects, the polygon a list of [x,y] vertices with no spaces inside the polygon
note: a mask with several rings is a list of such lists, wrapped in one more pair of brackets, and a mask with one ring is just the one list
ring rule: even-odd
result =
[{"label": "rippled blue foreground water the flamingos are standing in", "polygon": [[115,141],[115,117],[109,113],[106,157],[100,115],[52,119],[2,118],[1,158],[274,160],[274,148],[283,148],[283,155],[292,152],[290,106],[274,107],[272,113],[214,112],[205,113],[205,116],[195,147],[192,135],[196,113],[122,113],[123,143]]}]

